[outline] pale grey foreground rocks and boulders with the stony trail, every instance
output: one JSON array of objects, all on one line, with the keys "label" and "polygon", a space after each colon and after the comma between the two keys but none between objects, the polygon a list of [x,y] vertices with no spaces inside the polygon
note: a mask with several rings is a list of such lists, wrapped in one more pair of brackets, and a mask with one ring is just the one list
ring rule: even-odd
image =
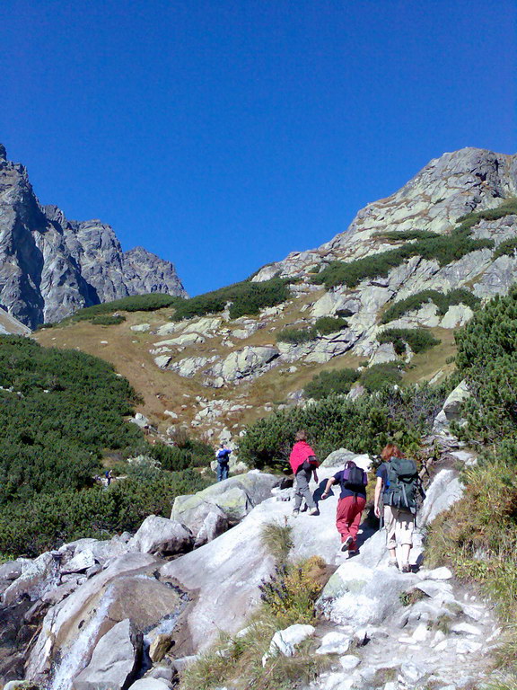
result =
[{"label": "pale grey foreground rocks and boulders with the stony trail", "polygon": [[[369,467],[369,456],[331,454],[316,498],[350,456]],[[258,471],[179,497],[171,519],[150,516],[134,536],[80,539],[6,563],[0,611],[10,624],[0,638],[0,677],[45,690],[173,687],[220,631],[246,626],[275,567],[262,530],[277,522],[292,526],[291,559],[319,555],[335,569],[316,627],[278,632],[288,654],[314,635],[317,653],[333,655],[307,690],[475,686],[498,638],[492,608],[447,568],[427,570],[422,549],[425,526],[460,498],[457,467],[472,462],[450,448],[437,464],[408,574],[388,565],[383,532],[366,523],[359,553],[338,551],[335,496],[320,500],[319,516],[293,517],[291,490]]]}]

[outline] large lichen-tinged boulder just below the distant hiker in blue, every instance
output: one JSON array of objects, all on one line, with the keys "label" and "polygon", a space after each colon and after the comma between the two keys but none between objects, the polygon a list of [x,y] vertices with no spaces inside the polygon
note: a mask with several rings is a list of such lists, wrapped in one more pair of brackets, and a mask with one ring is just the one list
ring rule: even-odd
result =
[{"label": "large lichen-tinged boulder just below the distant hiker in blue", "polygon": [[220,517],[225,517],[228,525],[235,525],[248,515],[251,509],[270,498],[271,490],[280,481],[280,477],[258,470],[230,477],[209,486],[204,491],[190,496],[178,496],[172,506],[171,520],[187,526],[194,535],[199,535],[202,529],[205,529],[208,535],[211,529],[205,521],[211,513],[215,513],[210,520],[218,522],[215,528],[217,532],[223,526]]}]

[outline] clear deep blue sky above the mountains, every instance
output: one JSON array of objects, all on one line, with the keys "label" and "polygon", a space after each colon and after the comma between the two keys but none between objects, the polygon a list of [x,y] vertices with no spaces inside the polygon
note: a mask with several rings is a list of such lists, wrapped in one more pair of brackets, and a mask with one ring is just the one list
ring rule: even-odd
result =
[{"label": "clear deep blue sky above the mountains", "polygon": [[431,158],[515,153],[513,0],[4,0],[0,141],[42,203],[192,295],[346,229]]}]

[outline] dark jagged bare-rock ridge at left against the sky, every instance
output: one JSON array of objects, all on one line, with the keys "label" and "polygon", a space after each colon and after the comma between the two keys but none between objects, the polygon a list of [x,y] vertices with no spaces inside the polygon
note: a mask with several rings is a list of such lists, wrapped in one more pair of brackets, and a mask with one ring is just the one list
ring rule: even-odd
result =
[{"label": "dark jagged bare-rock ridge at left against the sky", "polygon": [[186,296],[171,262],[142,247],[123,252],[100,220],[68,220],[41,206],[26,169],[0,145],[0,306],[34,328],[148,292]]}]

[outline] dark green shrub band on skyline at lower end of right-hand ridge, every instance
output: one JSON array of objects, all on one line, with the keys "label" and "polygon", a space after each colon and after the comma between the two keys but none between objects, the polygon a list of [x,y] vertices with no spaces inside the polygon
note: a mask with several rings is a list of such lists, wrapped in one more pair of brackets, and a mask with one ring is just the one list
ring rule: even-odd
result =
[{"label": "dark green shrub band on skyline at lower end of right-hand ridge", "polygon": [[259,314],[267,306],[279,305],[291,295],[288,280],[272,278],[261,283],[243,280],[226,288],[182,300],[176,305],[174,319],[182,321],[193,316],[205,316],[222,312],[227,302],[232,302],[230,318]]}]

